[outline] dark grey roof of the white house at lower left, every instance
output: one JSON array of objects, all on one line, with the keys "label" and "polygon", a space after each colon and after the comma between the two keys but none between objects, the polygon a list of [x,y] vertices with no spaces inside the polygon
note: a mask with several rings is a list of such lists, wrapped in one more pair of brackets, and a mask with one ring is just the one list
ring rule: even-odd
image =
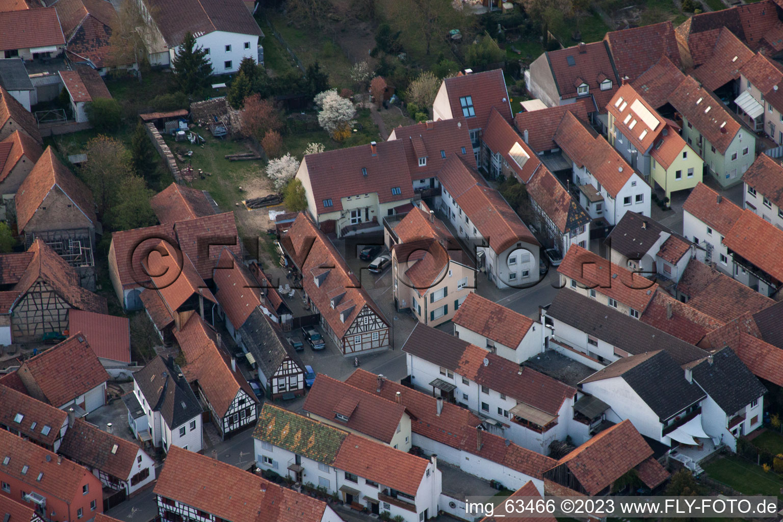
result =
[{"label": "dark grey roof of the white house at lower left", "polygon": [[160,355],[133,374],[146,400],[172,430],[203,411],[196,394],[175,365],[173,359]]}]

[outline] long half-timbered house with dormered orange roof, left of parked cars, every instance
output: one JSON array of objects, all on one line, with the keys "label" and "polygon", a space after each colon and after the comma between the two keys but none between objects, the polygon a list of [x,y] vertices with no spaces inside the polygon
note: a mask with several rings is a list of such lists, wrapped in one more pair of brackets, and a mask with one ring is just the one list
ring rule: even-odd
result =
[{"label": "long half-timbered house with dormered orange roof, left of parked cars", "polygon": [[346,357],[388,348],[389,323],[345,259],[306,214],[280,243],[301,272],[305,302]]}]

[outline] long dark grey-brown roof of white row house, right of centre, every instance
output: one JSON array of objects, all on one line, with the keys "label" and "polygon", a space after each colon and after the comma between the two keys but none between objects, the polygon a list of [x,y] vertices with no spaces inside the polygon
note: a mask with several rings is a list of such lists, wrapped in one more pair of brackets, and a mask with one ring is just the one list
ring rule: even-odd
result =
[{"label": "long dark grey-brown roof of white row house, right of centre", "polygon": [[666,350],[679,364],[707,356],[693,344],[568,288],[557,292],[547,315],[632,355]]}]

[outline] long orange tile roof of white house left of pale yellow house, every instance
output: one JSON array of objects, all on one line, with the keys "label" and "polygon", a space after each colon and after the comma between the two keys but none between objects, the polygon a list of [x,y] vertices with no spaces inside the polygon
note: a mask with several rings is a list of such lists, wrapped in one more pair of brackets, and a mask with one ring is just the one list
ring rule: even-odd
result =
[{"label": "long orange tile roof of white house left of pale yellow house", "polygon": [[572,113],[565,113],[554,141],[577,165],[586,166],[607,192],[616,197],[633,168],[601,135],[593,135]]}]

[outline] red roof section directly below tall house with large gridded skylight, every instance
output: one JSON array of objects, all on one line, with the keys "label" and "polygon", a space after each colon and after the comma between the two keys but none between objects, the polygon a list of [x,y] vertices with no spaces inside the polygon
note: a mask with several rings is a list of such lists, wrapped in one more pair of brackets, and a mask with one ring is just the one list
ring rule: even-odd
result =
[{"label": "red roof section directly below tall house with large gridded skylight", "polygon": [[[389,139],[399,139],[405,144],[408,170],[413,181],[435,178],[446,158],[455,154],[470,160],[473,150],[467,121],[461,116],[398,127],[391,131]],[[420,157],[427,157],[427,164],[423,167],[419,166]]]}]

